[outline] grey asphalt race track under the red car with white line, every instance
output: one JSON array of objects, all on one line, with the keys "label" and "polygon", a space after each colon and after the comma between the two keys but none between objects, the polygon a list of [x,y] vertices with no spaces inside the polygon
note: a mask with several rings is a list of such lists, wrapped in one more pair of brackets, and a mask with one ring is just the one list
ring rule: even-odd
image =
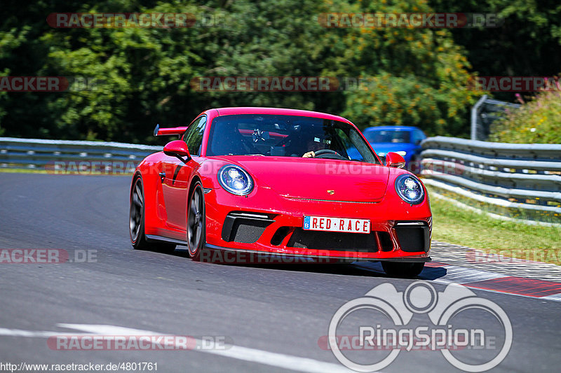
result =
[{"label": "grey asphalt race track under the red car with white line", "polygon": [[[0,264],[1,363],[145,362],[157,363],[158,372],[343,372],[346,367],[332,351],[318,344],[337,309],[381,284],[403,292],[419,281],[388,278],[377,264],[242,267],[135,251],[128,237],[129,185],[128,176],[0,174],[0,249],[69,253],[61,264]],[[420,281],[442,292],[446,284],[438,279],[445,274],[446,269],[426,268]],[[471,291],[501,307],[512,325],[511,349],[492,372],[558,372],[561,302]],[[496,318],[466,312],[463,323],[500,339]],[[377,315],[363,310],[347,321],[375,327],[388,320]],[[424,325],[431,325],[426,314],[415,314],[407,327]],[[227,348],[60,351],[49,344],[56,335],[133,334],[194,336],[216,346],[225,341]],[[476,364],[492,351],[458,353],[459,360]],[[418,350],[400,351],[381,371],[461,372],[440,351]]]}]

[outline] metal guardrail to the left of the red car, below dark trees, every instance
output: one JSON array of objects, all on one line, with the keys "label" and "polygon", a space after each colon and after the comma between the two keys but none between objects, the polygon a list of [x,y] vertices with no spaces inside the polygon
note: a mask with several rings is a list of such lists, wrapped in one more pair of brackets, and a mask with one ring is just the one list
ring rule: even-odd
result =
[{"label": "metal guardrail to the left of the red car, below dark trees", "polygon": [[127,173],[144,157],[161,150],[161,146],[132,143],[0,137],[0,168]]}]

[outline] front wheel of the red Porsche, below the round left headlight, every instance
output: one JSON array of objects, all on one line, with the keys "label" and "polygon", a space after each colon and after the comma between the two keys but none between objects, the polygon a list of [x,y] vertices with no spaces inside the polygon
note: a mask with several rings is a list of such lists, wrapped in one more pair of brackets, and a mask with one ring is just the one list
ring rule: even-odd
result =
[{"label": "front wheel of the red Porsche, below the round left headlight", "polygon": [[187,210],[187,246],[191,260],[201,260],[205,237],[205,195],[203,185],[197,181],[189,194]]}]

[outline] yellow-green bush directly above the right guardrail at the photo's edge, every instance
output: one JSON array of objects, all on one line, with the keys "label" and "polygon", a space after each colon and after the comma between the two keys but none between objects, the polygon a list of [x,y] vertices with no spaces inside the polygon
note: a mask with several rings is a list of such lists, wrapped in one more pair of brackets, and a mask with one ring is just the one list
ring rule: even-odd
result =
[{"label": "yellow-green bush directly above the right guardrail at the photo's edge", "polygon": [[560,143],[561,92],[542,92],[520,109],[506,113],[492,125],[489,141]]}]

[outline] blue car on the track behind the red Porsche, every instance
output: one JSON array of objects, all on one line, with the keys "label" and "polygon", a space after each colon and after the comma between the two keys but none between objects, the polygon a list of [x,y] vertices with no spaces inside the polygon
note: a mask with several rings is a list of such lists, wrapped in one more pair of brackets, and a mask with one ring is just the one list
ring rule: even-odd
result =
[{"label": "blue car on the track behind the red Porsche", "polygon": [[419,171],[421,141],[426,139],[424,132],[410,126],[369,127],[363,131],[367,141],[380,157],[395,152],[405,158],[405,167]]}]

